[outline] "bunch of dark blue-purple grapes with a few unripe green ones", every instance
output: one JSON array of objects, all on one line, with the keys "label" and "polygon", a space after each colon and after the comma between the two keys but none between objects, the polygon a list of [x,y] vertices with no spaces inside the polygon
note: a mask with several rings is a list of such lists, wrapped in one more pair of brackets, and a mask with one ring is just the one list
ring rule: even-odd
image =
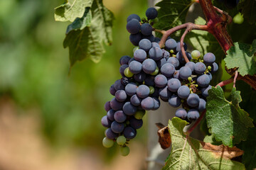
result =
[{"label": "bunch of dark blue-purple grapes with a few unripe green ones", "polygon": [[[154,18],[157,11],[149,8],[146,16]],[[135,14],[127,21],[134,18],[139,21]],[[112,147],[117,142],[123,156],[129,154],[127,144],[142,127],[145,111],[160,107],[159,98],[174,108],[182,106],[176,111],[176,117],[188,122],[198,119],[206,109],[211,74],[218,70],[215,55],[210,52],[203,57],[198,50],[186,52],[190,61],[186,63],[180,42],[172,38],[166,40],[163,49],[146,38],[139,40],[138,45],[133,57],[125,55],[119,60],[122,78],[110,86],[114,98],[105,103],[107,115],[102,118],[102,125],[107,128],[103,145]],[[187,50],[186,43],[183,47]]]}]

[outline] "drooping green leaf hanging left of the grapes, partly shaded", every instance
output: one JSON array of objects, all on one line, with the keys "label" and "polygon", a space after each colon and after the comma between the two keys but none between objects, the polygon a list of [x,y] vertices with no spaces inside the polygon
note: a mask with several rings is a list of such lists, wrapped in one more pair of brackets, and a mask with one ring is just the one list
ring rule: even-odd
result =
[{"label": "drooping green leaf hanging left of the grapes, partly shaded", "polygon": [[103,6],[102,0],[94,0],[91,8],[85,8],[82,18],[76,18],[68,26],[63,46],[69,47],[71,67],[85,57],[100,61],[105,52],[102,42],[112,43],[113,19],[113,13]]}]

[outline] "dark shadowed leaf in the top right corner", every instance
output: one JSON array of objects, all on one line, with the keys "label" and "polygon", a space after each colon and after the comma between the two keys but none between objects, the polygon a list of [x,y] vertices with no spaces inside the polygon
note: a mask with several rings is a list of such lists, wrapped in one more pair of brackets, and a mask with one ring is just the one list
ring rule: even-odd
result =
[{"label": "dark shadowed leaf in the top right corner", "polygon": [[242,11],[244,18],[250,23],[256,22],[256,1],[255,0],[241,0],[238,8]]}]

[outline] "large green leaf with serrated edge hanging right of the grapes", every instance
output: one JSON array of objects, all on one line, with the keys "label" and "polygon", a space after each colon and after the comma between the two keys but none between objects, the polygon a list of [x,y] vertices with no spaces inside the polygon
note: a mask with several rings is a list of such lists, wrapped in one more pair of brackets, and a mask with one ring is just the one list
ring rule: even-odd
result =
[{"label": "large green leaf with serrated edge hanging right of the grapes", "polygon": [[210,133],[223,145],[233,147],[241,140],[246,140],[248,128],[254,127],[249,114],[242,110],[239,103],[242,101],[240,91],[232,89],[227,101],[220,86],[208,91],[206,103],[206,120]]}]

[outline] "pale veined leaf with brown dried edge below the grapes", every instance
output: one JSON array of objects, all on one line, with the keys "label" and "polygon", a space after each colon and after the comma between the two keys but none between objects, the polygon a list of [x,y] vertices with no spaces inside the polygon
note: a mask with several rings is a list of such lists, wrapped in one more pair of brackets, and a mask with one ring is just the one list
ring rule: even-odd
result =
[{"label": "pale veined leaf with brown dried edge below the grapes", "polygon": [[171,134],[171,154],[166,160],[164,170],[168,169],[245,169],[240,162],[230,158],[242,154],[242,150],[233,147],[211,145],[192,137],[186,137],[183,128],[188,123],[180,118],[169,120]]}]

